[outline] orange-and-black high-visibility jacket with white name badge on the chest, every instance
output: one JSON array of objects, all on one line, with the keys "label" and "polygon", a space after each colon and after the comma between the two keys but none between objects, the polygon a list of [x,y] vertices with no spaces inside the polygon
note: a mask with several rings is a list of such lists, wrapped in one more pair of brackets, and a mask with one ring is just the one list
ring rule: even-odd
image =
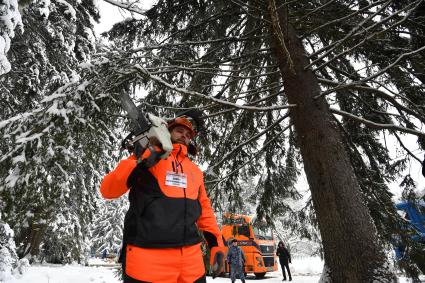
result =
[{"label": "orange-and-black high-visibility jacket with white name badge on the chest", "polygon": [[[173,146],[167,159],[148,169],[131,155],[104,177],[100,191],[105,198],[120,197],[130,189],[124,241],[142,248],[182,247],[201,241],[199,229],[210,248],[223,246],[203,173],[187,157],[186,146]],[[149,154],[146,150],[142,159]]]}]

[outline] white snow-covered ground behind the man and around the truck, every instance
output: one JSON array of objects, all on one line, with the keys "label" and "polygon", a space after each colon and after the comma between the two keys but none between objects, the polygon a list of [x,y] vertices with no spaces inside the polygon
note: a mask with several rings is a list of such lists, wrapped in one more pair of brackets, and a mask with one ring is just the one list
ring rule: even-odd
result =
[{"label": "white snow-covered ground behind the man and around the truck", "polygon": [[[92,260],[89,264],[105,264],[100,260]],[[320,258],[309,257],[294,259],[290,268],[293,273],[292,282],[317,283],[323,263]],[[320,271],[318,271],[320,270]],[[5,283],[120,283],[115,276],[114,265],[110,266],[82,266],[82,265],[33,265],[18,278],[11,278]],[[425,277],[421,277],[425,282]],[[207,277],[208,283],[229,283],[230,279]],[[240,282],[237,280],[236,282]],[[279,271],[267,273],[263,279],[256,279],[248,274],[247,282],[277,283],[282,282],[282,273]],[[400,283],[411,282],[403,276],[399,276]]]}]

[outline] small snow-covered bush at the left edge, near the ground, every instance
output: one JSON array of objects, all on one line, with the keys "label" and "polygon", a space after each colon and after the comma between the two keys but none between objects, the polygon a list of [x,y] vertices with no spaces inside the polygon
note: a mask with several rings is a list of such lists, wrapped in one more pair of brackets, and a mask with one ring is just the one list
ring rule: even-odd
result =
[{"label": "small snow-covered bush at the left edge, near the ground", "polygon": [[0,282],[11,279],[12,271],[18,263],[15,249],[12,229],[0,220]]}]

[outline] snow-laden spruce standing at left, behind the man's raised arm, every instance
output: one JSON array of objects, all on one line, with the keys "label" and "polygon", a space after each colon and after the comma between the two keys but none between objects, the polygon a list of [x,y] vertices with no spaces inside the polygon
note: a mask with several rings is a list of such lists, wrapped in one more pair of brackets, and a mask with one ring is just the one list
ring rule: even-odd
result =
[{"label": "snow-laden spruce standing at left, behind the man's raised arm", "polygon": [[89,67],[99,16],[92,1],[25,4],[0,77],[0,207],[19,257],[42,247],[44,259],[81,261],[105,166],[98,153],[107,160],[102,141],[115,138],[102,117],[93,121],[102,98],[85,97],[77,74]]}]

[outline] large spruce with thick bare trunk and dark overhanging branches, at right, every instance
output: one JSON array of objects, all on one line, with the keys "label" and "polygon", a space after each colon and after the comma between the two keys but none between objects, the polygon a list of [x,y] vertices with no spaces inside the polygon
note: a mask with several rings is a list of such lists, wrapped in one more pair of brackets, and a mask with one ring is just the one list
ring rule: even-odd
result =
[{"label": "large spruce with thick bare trunk and dark overhanging branches, at right", "polygon": [[[149,89],[146,109],[204,110],[200,161],[214,200],[238,195],[246,168],[259,176],[258,214],[270,222],[283,213],[278,196],[291,194],[291,164],[302,161],[330,279],[390,282],[383,246],[400,217],[388,184],[419,159],[405,135],[423,149],[422,9],[163,0],[108,35],[126,50],[120,76]],[[390,137],[405,158],[391,161]],[[285,163],[288,144],[296,153]]]}]

